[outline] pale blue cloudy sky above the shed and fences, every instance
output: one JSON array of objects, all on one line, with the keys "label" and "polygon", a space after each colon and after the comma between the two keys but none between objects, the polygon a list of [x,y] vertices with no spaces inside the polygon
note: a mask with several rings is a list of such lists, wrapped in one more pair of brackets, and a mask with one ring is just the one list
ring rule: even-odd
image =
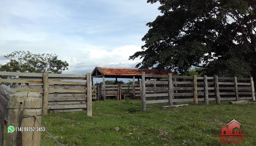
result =
[{"label": "pale blue cloudy sky above the shed and fences", "polygon": [[[147,0],[1,0],[0,64],[13,51],[57,54],[65,74],[86,74],[96,66],[135,68],[142,37],[160,4]],[[108,79],[106,79],[108,80]]]}]

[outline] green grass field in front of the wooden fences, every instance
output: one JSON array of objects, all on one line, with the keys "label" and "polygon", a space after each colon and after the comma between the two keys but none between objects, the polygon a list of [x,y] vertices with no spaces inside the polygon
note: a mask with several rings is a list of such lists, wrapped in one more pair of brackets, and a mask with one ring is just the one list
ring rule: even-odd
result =
[{"label": "green grass field in front of the wooden fences", "polygon": [[[167,103],[147,104],[142,112],[141,100],[94,101],[92,117],[86,111],[50,113],[41,123],[63,146],[256,146],[256,104],[221,102],[166,109],[161,106]],[[242,124],[242,134],[251,137],[221,144],[220,137],[213,136],[233,119]],[[41,132],[41,146],[57,143]]]}]

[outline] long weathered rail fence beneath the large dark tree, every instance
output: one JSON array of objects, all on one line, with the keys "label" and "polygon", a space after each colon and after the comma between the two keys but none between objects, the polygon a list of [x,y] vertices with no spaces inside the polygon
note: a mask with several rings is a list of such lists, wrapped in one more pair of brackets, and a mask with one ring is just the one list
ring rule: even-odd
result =
[{"label": "long weathered rail fence beneath the large dark tree", "polygon": [[[146,78],[167,78],[166,81],[146,81]],[[151,91],[151,92],[149,92]],[[181,101],[216,100],[243,100],[255,101],[255,91],[251,78],[237,77],[196,77],[196,76],[168,76],[148,75],[142,72],[140,94],[142,97],[143,111],[149,103],[169,103]],[[249,96],[249,97],[248,97]],[[150,99],[150,100],[149,100]]]}]

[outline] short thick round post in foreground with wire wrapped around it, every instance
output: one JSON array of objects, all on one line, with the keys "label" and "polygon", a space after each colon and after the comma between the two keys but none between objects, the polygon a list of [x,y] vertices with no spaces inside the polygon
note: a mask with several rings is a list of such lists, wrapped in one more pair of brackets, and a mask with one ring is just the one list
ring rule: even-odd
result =
[{"label": "short thick round post in foreground with wire wrapped around it", "polygon": [[[42,116],[42,99],[41,98],[26,98],[24,99],[24,108],[39,108],[39,109],[24,109],[23,118],[20,127],[23,127],[22,146],[40,146],[41,141],[41,123]],[[38,115],[37,120],[32,117],[26,117],[27,115]],[[34,128],[34,131],[27,131],[27,128]],[[40,131],[38,131],[38,128]]]}]

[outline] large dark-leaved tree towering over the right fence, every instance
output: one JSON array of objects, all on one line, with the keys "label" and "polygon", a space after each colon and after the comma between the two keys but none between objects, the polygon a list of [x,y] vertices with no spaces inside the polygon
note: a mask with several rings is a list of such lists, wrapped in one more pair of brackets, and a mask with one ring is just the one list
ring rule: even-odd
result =
[{"label": "large dark-leaved tree towering over the right fence", "polygon": [[256,0],[148,0],[163,15],[146,25],[145,45],[129,59],[137,68],[191,66],[219,76],[253,76],[256,82]]}]

